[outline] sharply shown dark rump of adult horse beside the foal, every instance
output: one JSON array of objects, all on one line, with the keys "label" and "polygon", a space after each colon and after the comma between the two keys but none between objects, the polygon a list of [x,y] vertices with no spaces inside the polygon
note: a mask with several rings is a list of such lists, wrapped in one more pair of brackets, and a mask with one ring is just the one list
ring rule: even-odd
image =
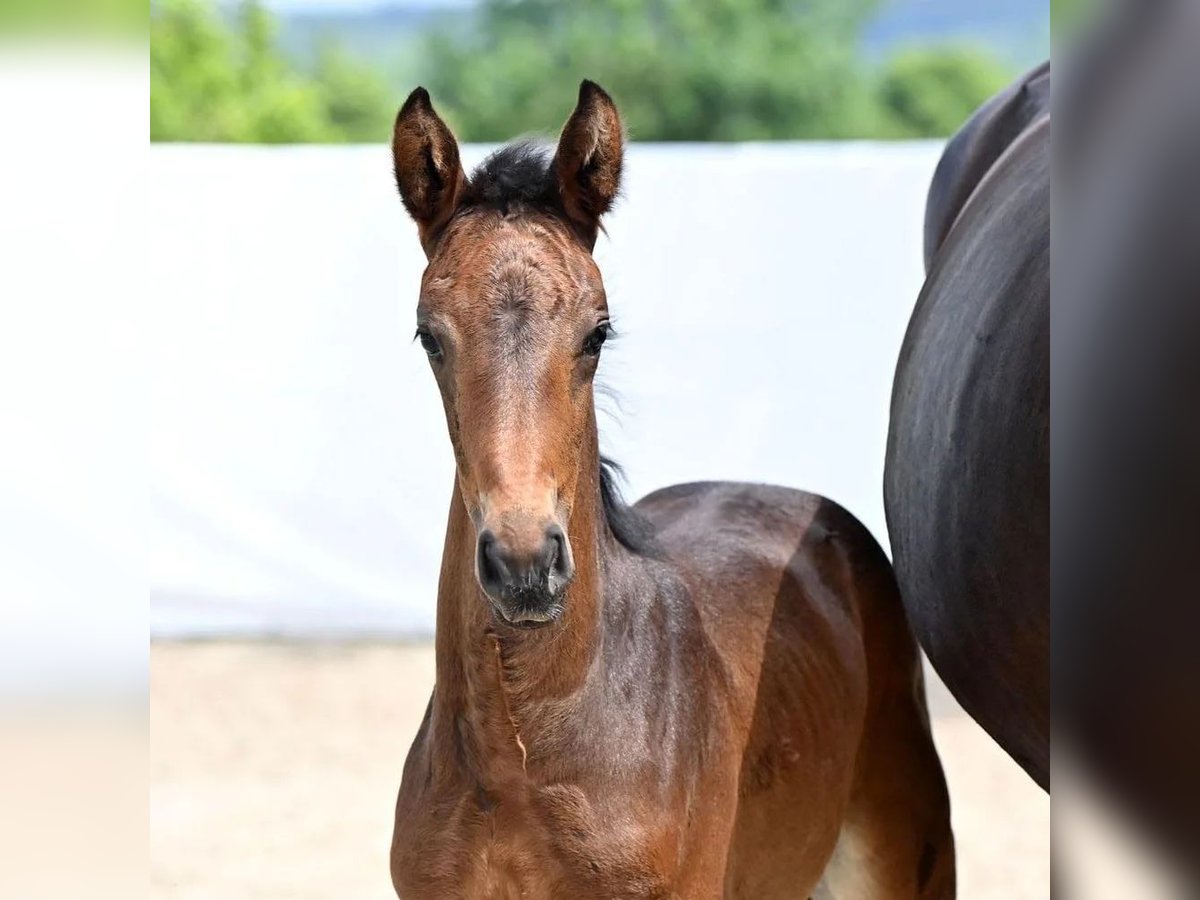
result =
[{"label": "sharply shown dark rump of adult horse beside the foal", "polygon": [[954,696],[1050,770],[1049,65],[949,142],[892,394],[883,499],[900,593]]}]

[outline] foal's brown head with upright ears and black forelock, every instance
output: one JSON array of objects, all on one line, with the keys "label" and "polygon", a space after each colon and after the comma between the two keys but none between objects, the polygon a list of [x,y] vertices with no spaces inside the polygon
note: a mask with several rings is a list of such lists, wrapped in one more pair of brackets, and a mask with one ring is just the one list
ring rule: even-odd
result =
[{"label": "foal's brown head with upright ears and black forelock", "polygon": [[[529,143],[468,178],[418,88],[396,119],[396,181],[428,265],[416,335],[445,406],[475,575],[511,624],[554,619],[575,575],[568,522],[595,485],[592,379],[608,308],[592,248],[624,137],[592,82],[551,154]],[[586,478],[584,478],[586,476]],[[593,488],[594,491],[594,488]]]}]

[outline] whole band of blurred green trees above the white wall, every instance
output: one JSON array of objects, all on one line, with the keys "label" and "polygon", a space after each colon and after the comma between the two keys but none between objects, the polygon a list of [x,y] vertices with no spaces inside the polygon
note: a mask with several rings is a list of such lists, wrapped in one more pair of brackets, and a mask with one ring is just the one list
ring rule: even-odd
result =
[{"label": "whole band of blurred green trees above the white wall", "polygon": [[[463,140],[562,121],[580,78],[617,100],[636,140],[914,138],[952,133],[1014,74],[980,49],[869,65],[878,0],[484,0],[470,28],[425,36],[419,71]],[[247,0],[151,8],[151,138],[385,140],[402,91],[326,46],[307,71]]]}]

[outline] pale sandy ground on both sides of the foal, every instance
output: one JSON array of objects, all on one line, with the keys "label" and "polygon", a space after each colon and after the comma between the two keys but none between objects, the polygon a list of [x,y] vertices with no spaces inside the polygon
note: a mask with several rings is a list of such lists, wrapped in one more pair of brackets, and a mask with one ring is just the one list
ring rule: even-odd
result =
[{"label": "pale sandy ground on both sides of the foal", "polygon": [[[431,647],[155,643],[150,674],[154,898],[394,900],[392,804]],[[931,709],[959,896],[1048,896],[1049,798],[936,684]]]}]

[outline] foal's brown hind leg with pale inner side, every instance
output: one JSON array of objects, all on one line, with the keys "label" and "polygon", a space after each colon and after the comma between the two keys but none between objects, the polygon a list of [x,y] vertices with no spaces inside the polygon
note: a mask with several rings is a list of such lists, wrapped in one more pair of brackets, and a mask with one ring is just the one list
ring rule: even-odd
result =
[{"label": "foal's brown hind leg with pale inner side", "polygon": [[870,680],[854,787],[817,900],[953,900],[954,835],[917,643],[882,551],[858,560]]}]

